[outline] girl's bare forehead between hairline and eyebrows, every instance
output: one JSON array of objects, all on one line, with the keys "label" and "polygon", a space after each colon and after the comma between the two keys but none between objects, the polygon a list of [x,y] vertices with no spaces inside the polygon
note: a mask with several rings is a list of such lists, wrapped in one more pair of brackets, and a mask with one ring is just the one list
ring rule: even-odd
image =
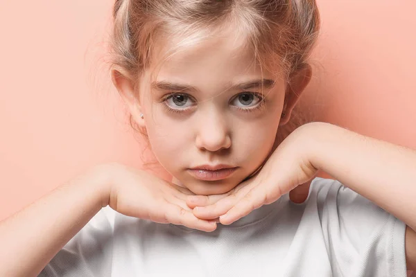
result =
[{"label": "girl's bare forehead between hairline and eyebrows", "polygon": [[155,80],[218,83],[271,75],[256,59],[248,36],[235,29],[176,37],[163,45]]}]

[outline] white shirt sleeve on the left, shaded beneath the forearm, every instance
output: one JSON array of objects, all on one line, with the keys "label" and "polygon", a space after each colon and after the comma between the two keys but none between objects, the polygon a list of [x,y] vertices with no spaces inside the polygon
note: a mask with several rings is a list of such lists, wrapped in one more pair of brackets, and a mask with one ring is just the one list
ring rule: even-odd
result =
[{"label": "white shirt sleeve on the left, shaded beneath the forearm", "polygon": [[110,277],[115,211],[107,206],[56,254],[40,277]]}]

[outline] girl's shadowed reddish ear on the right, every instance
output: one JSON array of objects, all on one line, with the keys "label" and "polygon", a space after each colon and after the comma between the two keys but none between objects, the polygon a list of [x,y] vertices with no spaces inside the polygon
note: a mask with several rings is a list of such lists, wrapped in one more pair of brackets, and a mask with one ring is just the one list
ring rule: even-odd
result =
[{"label": "girl's shadowed reddish ear on the right", "polygon": [[286,88],[286,95],[284,98],[283,111],[280,118],[279,125],[285,125],[291,118],[293,108],[297,104],[302,92],[311,81],[312,68],[309,64],[304,64],[302,69],[296,71],[291,75]]}]

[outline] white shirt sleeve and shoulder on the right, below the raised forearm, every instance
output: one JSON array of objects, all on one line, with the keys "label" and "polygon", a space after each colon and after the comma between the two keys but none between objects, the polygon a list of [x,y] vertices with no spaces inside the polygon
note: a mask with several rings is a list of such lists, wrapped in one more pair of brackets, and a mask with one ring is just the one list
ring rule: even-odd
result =
[{"label": "white shirt sleeve and shoulder on the right, below the raised forearm", "polygon": [[331,179],[313,180],[309,201],[317,204],[334,275],[406,276],[404,222]]}]

